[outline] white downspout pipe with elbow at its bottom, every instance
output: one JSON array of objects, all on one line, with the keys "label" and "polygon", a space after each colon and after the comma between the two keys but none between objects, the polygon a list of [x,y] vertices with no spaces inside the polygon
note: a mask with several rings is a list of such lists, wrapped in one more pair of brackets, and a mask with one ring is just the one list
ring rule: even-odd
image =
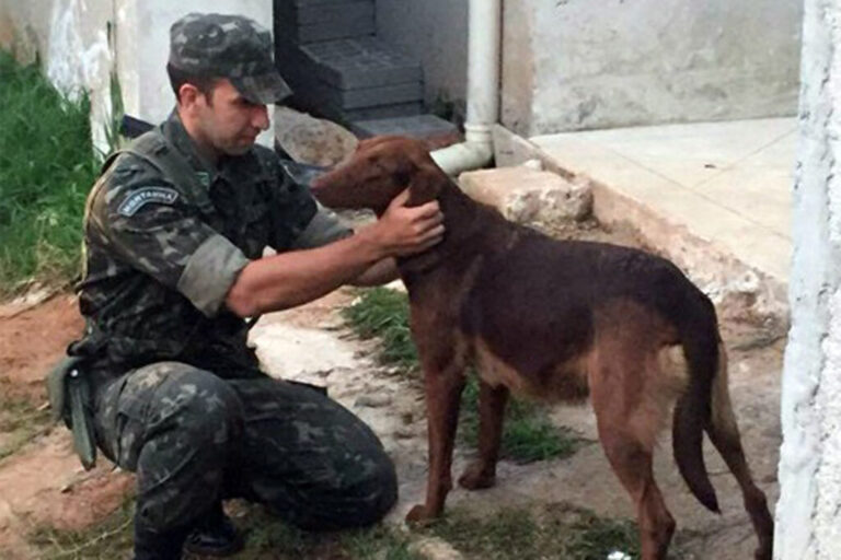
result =
[{"label": "white downspout pipe with elbow at its bottom", "polygon": [[499,115],[502,0],[470,0],[469,10],[465,141],[431,154],[448,175],[484,167],[491,162],[493,127]]}]

